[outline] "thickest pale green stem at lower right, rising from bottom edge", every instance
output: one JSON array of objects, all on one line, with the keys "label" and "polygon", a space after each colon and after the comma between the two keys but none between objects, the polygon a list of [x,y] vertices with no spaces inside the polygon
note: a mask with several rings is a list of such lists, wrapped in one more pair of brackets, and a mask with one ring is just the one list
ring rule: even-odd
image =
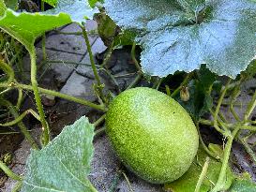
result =
[{"label": "thickest pale green stem at lower right, rising from bottom edge", "polygon": [[240,129],[240,125],[237,125],[234,128],[232,134],[228,137],[228,141],[226,143],[225,150],[224,150],[224,156],[223,156],[221,170],[218,175],[218,182],[215,185],[215,187],[211,190],[211,192],[219,192],[219,191],[223,190],[223,187],[225,185],[226,172],[227,172],[227,168],[228,168],[228,164],[229,164],[229,157],[231,154],[233,139],[236,136],[239,129]]}]

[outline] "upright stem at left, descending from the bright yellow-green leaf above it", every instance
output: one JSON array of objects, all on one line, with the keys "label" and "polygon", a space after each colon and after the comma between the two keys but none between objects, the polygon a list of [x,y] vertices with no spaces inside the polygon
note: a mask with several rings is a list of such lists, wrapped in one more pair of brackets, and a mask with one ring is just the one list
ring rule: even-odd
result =
[{"label": "upright stem at left, descending from the bright yellow-green leaf above it", "polygon": [[32,88],[34,91],[34,96],[35,96],[35,100],[36,100],[36,104],[38,107],[38,113],[40,116],[40,122],[42,124],[42,144],[45,146],[48,144],[48,142],[50,141],[50,127],[45,119],[45,114],[43,111],[43,106],[41,103],[41,98],[39,96],[39,91],[38,91],[38,81],[37,81],[37,62],[36,62],[36,50],[35,48],[32,48],[29,51],[30,54],[30,58],[31,58],[31,84],[32,84]]}]

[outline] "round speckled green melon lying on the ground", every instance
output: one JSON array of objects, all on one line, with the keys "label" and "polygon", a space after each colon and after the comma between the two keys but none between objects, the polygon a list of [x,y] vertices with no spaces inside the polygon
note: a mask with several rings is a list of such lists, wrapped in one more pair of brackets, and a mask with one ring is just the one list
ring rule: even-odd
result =
[{"label": "round speckled green melon lying on the ground", "polygon": [[198,150],[198,133],[188,112],[154,89],[134,88],[116,96],[106,124],[123,163],[153,184],[182,176]]}]

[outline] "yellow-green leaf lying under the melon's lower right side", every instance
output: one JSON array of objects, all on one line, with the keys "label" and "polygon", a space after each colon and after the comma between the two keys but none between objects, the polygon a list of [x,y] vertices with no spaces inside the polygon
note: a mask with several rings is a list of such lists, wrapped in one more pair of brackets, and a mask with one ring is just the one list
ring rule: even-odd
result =
[{"label": "yellow-green leaf lying under the melon's lower right side", "polygon": [[[218,146],[218,148],[220,148]],[[178,180],[174,181],[171,184],[164,185],[166,190],[172,192],[194,192],[197,185],[199,176],[203,169],[203,164],[205,162],[207,154],[203,151],[203,148],[200,147],[197,156],[195,157],[189,170]],[[200,192],[210,191],[218,181],[218,174],[221,169],[221,163],[217,160],[210,158],[209,167],[207,170],[206,177],[203,180],[203,185],[200,189]],[[233,181],[233,173],[228,167],[227,170],[227,179],[224,188],[228,189]]]}]

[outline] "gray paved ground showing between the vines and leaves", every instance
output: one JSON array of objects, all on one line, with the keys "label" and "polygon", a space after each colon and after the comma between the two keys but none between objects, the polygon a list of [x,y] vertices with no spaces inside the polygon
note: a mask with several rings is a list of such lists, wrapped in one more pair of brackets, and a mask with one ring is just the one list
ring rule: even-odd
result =
[{"label": "gray paved ground showing between the vines and leaves", "polygon": [[[88,22],[87,29],[93,30],[96,28],[95,22]],[[75,24],[70,24],[60,30],[61,32],[77,32],[80,28]],[[90,43],[92,45],[92,50],[94,54],[104,52],[106,47],[104,46],[101,39],[97,36],[90,36]],[[88,99],[90,101],[97,101],[97,97],[94,95],[94,90],[92,88],[93,83],[95,83],[93,72],[90,66],[88,52],[86,51],[86,46],[82,36],[67,36],[63,34],[58,34],[56,32],[51,32],[47,36],[46,48],[49,60],[54,60],[58,62],[50,62],[48,65],[43,66],[38,71],[38,77],[41,77],[39,83],[40,85],[50,88],[53,90],[58,90],[61,93],[68,94],[70,96],[77,96]],[[38,51],[38,64],[42,61],[42,50],[40,42],[37,44]],[[100,72],[101,80],[105,83],[109,89],[113,90],[117,94],[118,89],[124,89],[128,83],[134,79],[134,72],[136,71],[132,65],[129,52],[122,50],[116,51],[113,54],[111,63],[111,71],[113,75],[123,75],[131,74],[126,78],[118,78],[116,87],[110,78]],[[121,57],[119,57],[121,55]],[[64,61],[71,61],[76,64],[66,64]],[[25,56],[23,63],[25,66],[25,75],[29,79],[29,57]],[[245,89],[249,89],[252,85],[255,86],[255,80],[248,82],[251,83]],[[240,99],[248,100],[248,95],[245,94]],[[33,103],[29,97],[25,101],[27,103]],[[43,103],[46,106],[46,111],[49,119],[51,120],[51,127],[53,128],[53,136],[60,133],[61,129],[72,124],[76,119],[80,118],[82,115],[89,117],[91,122],[94,122],[100,116],[98,111],[91,110],[79,104],[71,103],[65,100],[60,100],[57,98],[43,97]],[[28,105],[28,104],[27,104]],[[225,110],[225,109],[223,109]],[[240,111],[241,113],[242,111]],[[232,120],[232,117],[230,117]],[[38,137],[40,129],[34,127],[33,135]],[[252,140],[253,141],[253,140]],[[255,140],[254,140],[255,142]],[[100,136],[94,141],[95,145],[95,155],[92,162],[92,172],[89,175],[90,180],[96,186],[99,192],[109,191],[110,187],[113,185],[116,178],[118,178],[118,173],[121,168],[120,161],[114,155],[114,152],[110,146],[109,140],[106,136]],[[244,170],[248,170],[251,174],[255,176],[255,165],[249,164],[245,160],[243,151],[241,147],[235,144],[234,157],[239,162],[239,165],[243,167]],[[18,150],[14,152],[12,170],[19,174],[24,174],[25,172],[25,161],[30,152],[30,146],[23,140],[20,144]],[[239,172],[239,170],[237,170]],[[158,192],[161,191],[161,186],[150,185],[143,180],[139,179],[132,173],[127,172],[130,184],[133,191],[135,192]],[[256,179],[256,178],[254,178]],[[128,192],[130,188],[128,187],[127,181],[121,175],[120,179],[117,180],[117,191]],[[0,188],[0,191],[10,192],[15,182],[8,179],[5,185]]]}]

